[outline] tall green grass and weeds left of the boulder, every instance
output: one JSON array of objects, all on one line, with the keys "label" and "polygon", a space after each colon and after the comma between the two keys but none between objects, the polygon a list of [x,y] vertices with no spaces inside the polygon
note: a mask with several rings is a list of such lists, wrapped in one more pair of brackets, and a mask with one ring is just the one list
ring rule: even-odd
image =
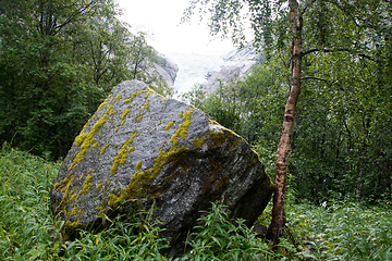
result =
[{"label": "tall green grass and weeds left of the boulder", "polygon": [[49,188],[59,170],[4,145],[0,151],[0,256],[2,260],[50,260],[56,224]]}]

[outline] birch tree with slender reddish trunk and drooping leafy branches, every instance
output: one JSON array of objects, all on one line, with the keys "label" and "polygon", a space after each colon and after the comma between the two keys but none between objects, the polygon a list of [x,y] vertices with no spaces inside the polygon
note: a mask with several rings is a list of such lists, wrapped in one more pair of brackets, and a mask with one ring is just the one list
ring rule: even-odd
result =
[{"label": "birch tree with slender reddish trunk and drooping leafy branches", "polygon": [[[267,233],[267,238],[277,247],[285,227],[287,164],[302,82],[329,80],[320,77],[323,74],[317,70],[311,75],[302,75],[303,61],[313,57],[316,63],[308,66],[316,67],[318,57],[345,52],[353,60],[377,63],[390,75],[391,3],[388,0],[194,0],[184,12],[184,21],[188,21],[195,10],[201,13],[200,17],[208,17],[212,35],[221,34],[242,46],[245,21],[250,21],[255,45],[262,47],[267,58],[290,50],[290,61],[286,61],[291,67],[290,88],[277,150],[272,220]],[[381,58],[377,53],[385,55]],[[382,80],[387,75],[382,73],[378,77]]]}]

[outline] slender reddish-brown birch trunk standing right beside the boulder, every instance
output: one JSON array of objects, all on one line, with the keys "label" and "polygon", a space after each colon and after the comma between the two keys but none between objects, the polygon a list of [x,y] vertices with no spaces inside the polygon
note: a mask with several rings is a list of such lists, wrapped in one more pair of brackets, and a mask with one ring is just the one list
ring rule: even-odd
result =
[{"label": "slender reddish-brown birch trunk standing right beside the boulder", "polygon": [[301,91],[301,63],[302,63],[302,20],[298,14],[297,0],[290,0],[290,15],[292,25],[292,77],[290,94],[284,112],[283,130],[279,140],[275,165],[275,184],[273,195],[272,220],[268,227],[267,238],[273,241],[277,249],[279,237],[285,226],[284,197],[287,179],[287,159],[291,150],[292,134],[294,129],[295,107]]}]

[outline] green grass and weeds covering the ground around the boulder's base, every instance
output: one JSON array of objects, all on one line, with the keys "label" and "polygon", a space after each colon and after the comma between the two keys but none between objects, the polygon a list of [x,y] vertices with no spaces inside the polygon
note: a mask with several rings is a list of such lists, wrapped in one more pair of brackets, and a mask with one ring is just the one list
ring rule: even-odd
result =
[{"label": "green grass and weeds covering the ground around the boulder's base", "polygon": [[[242,220],[229,222],[224,206],[212,204],[189,234],[181,258],[149,220],[117,221],[103,232],[79,232],[64,241],[63,222],[49,209],[49,189],[60,163],[7,145],[0,151],[1,260],[392,260],[392,207],[333,202],[287,204],[287,228],[278,252]],[[289,200],[290,201],[290,200]],[[259,223],[268,224],[269,206]]]}]

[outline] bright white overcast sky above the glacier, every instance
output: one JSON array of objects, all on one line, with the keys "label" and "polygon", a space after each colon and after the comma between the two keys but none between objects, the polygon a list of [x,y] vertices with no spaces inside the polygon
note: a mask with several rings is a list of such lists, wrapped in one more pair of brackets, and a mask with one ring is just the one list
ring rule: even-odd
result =
[{"label": "bright white overcast sky above the glacier", "polygon": [[147,32],[148,44],[158,52],[200,53],[222,55],[233,50],[229,39],[209,34],[206,21],[199,23],[195,14],[191,23],[181,24],[188,0],[118,0],[123,9],[121,20],[132,26],[132,32]]}]

